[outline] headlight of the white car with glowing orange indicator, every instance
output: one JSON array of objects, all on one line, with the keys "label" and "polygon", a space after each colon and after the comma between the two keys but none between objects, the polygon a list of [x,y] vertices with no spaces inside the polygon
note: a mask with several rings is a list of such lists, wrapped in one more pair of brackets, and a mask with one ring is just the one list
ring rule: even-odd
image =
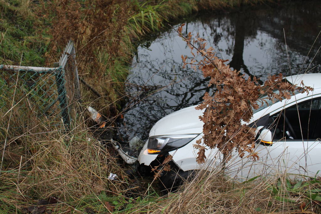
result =
[{"label": "headlight of the white car with glowing orange indicator", "polygon": [[147,151],[149,154],[170,152],[185,146],[198,135],[163,135],[148,138]]}]

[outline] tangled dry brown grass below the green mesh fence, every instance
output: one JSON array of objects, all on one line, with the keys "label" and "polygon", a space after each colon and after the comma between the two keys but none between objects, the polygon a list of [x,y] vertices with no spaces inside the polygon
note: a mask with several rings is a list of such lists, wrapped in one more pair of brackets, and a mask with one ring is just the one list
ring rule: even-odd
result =
[{"label": "tangled dry brown grass below the green mesh fence", "polygon": [[[70,133],[61,130],[61,126],[50,126],[50,119],[41,120],[32,113],[28,127],[13,129],[26,125],[25,117],[10,119],[12,130],[6,135],[6,147],[1,147],[4,161],[0,175],[0,204],[5,204],[7,213],[49,196],[59,198],[61,204],[55,212],[60,213],[77,209],[77,203],[88,195],[104,192],[112,196],[126,189],[126,176],[115,154],[92,137],[81,118]],[[4,120],[1,122],[5,127]],[[1,136],[3,142],[4,137]],[[109,173],[116,173],[119,181],[108,179]]]}]

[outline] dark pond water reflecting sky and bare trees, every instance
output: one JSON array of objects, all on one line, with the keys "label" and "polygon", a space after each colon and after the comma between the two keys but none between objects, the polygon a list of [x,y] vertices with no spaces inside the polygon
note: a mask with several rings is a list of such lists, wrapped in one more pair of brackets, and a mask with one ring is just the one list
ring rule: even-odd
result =
[{"label": "dark pond water reflecting sky and bare trees", "polygon": [[[320,6],[319,1],[305,1],[206,13],[182,22],[186,24],[183,33],[199,33],[218,57],[228,59],[230,67],[247,77],[254,75],[265,81],[280,72],[286,76],[320,73],[321,36],[313,45],[321,30]],[[138,47],[126,81],[124,109],[128,111],[119,129],[123,141],[134,136],[145,141],[160,118],[199,104],[211,90],[201,71],[182,68],[182,54],[191,57],[190,49],[172,29]]]}]

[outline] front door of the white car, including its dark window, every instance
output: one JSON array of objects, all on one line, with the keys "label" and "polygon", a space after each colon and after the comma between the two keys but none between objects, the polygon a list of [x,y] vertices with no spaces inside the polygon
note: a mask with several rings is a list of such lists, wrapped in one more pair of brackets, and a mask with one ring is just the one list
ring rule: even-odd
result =
[{"label": "front door of the white car, including its dark window", "polygon": [[315,95],[271,112],[265,127],[273,133],[273,144],[256,143],[256,161],[235,156],[228,174],[241,181],[281,173],[315,176],[321,170],[320,108],[321,97]]}]

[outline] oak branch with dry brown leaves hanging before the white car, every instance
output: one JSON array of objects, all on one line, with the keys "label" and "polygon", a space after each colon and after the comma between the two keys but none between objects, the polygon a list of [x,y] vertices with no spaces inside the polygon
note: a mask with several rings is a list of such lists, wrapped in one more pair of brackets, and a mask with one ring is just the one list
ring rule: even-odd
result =
[{"label": "oak branch with dry brown leaves hanging before the white car", "polygon": [[[241,158],[245,157],[247,152],[254,160],[258,160],[259,156],[254,152],[255,128],[245,124],[253,117],[253,110],[267,101],[274,103],[276,100],[290,99],[295,95],[295,91],[309,93],[313,88],[305,86],[303,82],[298,86],[283,81],[281,73],[278,76],[269,76],[264,85],[260,86],[256,77],[246,79],[244,74],[231,70],[225,64],[226,60],[216,56],[213,47],[206,47],[204,38],[193,37],[191,32],[187,37],[183,37],[181,32],[184,25],[178,27],[177,33],[191,49],[193,58],[187,62],[187,56],[182,55],[183,66],[190,65],[192,69],[201,70],[204,78],[211,78],[208,86],[215,88],[215,93],[210,95],[206,92],[203,103],[196,107],[204,110],[200,117],[204,122],[204,136],[194,145],[199,150],[197,162],[205,162],[207,148],[218,148],[224,161],[230,160],[235,150]],[[202,59],[197,61],[196,55],[202,56]],[[261,98],[262,95],[266,97]]]}]

